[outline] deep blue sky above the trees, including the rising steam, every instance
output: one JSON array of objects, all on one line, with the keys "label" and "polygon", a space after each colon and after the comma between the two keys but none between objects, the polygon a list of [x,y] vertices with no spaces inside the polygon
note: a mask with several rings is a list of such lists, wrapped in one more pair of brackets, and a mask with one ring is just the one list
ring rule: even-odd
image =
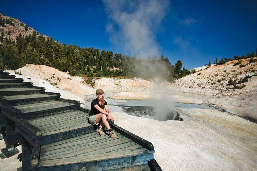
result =
[{"label": "deep blue sky above the trees, including the rising steam", "polygon": [[256,0],[0,1],[0,13],[83,48],[196,68],[257,48]]}]

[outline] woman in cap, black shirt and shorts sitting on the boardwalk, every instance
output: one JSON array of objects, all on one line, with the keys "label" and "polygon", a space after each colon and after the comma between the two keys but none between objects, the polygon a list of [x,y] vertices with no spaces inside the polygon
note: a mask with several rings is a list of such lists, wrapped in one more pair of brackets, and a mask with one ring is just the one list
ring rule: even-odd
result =
[{"label": "woman in cap, black shirt and shorts sitting on the boardwalk", "polygon": [[97,98],[94,99],[91,103],[89,122],[93,125],[100,124],[96,134],[105,136],[105,133],[103,132],[103,126],[105,126],[109,131],[109,137],[111,137],[112,139],[117,139],[117,135],[114,133],[114,131],[111,129],[108,123],[108,120],[113,121],[114,119],[110,109],[107,106],[107,102],[103,97],[104,91],[102,89],[97,89],[97,91],[95,92]]}]

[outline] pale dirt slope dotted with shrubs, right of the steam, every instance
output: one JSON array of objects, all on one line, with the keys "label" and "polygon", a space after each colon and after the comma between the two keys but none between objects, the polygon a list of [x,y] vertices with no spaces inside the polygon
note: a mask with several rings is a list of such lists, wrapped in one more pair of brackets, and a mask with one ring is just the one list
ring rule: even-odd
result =
[{"label": "pale dirt slope dotted with shrubs, right of the steam", "polygon": [[[257,57],[254,59],[257,59]],[[216,99],[209,100],[209,102],[221,108],[231,109],[257,121],[257,71],[252,72],[252,70],[257,70],[257,62],[249,64],[249,60],[242,60],[241,64],[246,65],[244,67],[240,67],[240,65],[234,66],[238,62],[238,60],[234,60],[187,75],[176,81],[177,89],[216,97]],[[248,82],[243,83],[246,87],[234,89],[234,86],[228,86],[230,79],[238,82],[240,78],[245,77],[245,74],[252,76],[252,78],[248,79]],[[218,82],[218,80],[222,81]]]}]

